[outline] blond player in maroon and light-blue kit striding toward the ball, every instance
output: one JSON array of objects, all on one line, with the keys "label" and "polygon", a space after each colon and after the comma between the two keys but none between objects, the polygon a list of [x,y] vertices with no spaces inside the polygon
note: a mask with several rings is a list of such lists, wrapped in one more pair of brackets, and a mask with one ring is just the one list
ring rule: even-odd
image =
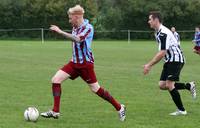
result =
[{"label": "blond player in maroon and light-blue kit striding toward the ball", "polygon": [[125,106],[114,99],[108,91],[101,87],[94,71],[94,58],[91,44],[93,40],[93,26],[84,19],[84,9],[76,5],[68,10],[69,23],[72,25],[72,34],[62,31],[58,26],[51,25],[50,30],[72,40],[72,59],[64,65],[52,78],[52,93],[54,96],[53,109],[41,116],[58,118],[60,115],[61,83],[68,78],[74,80],[81,77],[90,87],[91,91],[111,103],[119,114],[121,121],[125,120]]}]

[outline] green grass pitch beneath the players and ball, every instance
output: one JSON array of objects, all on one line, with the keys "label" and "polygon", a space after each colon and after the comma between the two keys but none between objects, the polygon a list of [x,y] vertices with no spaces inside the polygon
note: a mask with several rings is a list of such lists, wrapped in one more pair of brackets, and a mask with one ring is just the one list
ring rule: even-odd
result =
[{"label": "green grass pitch beneath the players and ball", "polygon": [[[200,56],[192,53],[192,47],[191,42],[182,42],[187,63],[181,81],[200,84]],[[162,62],[143,76],[142,65],[157,52],[156,43],[95,41],[93,52],[98,81],[127,106],[125,122],[120,122],[114,108],[91,93],[80,78],[62,86],[60,119],[24,121],[28,106],[36,106],[40,112],[52,107],[50,80],[71,58],[71,44],[0,41],[0,128],[200,128],[200,99],[192,100],[188,91],[180,92],[188,115],[168,115],[176,108],[169,93],[158,89]]]}]

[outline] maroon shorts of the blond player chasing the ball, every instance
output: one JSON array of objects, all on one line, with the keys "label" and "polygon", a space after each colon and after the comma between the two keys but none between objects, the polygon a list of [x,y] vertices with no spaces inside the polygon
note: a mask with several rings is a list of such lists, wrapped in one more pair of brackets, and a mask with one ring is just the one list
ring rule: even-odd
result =
[{"label": "maroon shorts of the blond player chasing the ball", "polygon": [[70,61],[61,70],[69,74],[72,80],[80,76],[88,84],[97,82],[93,63],[85,62],[83,64],[77,64]]}]

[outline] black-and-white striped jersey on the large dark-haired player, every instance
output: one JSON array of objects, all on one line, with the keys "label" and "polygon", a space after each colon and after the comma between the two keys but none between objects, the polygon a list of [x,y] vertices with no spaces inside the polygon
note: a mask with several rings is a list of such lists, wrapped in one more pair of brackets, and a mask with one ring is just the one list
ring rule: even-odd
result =
[{"label": "black-and-white striped jersey on the large dark-haired player", "polygon": [[159,30],[155,33],[155,38],[158,42],[159,51],[166,50],[164,61],[185,63],[183,52],[173,33],[162,24]]}]

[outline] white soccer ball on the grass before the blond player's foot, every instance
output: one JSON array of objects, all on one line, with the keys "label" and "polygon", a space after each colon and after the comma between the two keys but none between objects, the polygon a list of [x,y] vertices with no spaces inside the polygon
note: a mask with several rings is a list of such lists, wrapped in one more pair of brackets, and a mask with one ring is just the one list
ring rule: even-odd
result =
[{"label": "white soccer ball on the grass before the blond player's foot", "polygon": [[28,107],[24,111],[24,118],[26,121],[36,122],[39,117],[39,111],[35,107]]}]

